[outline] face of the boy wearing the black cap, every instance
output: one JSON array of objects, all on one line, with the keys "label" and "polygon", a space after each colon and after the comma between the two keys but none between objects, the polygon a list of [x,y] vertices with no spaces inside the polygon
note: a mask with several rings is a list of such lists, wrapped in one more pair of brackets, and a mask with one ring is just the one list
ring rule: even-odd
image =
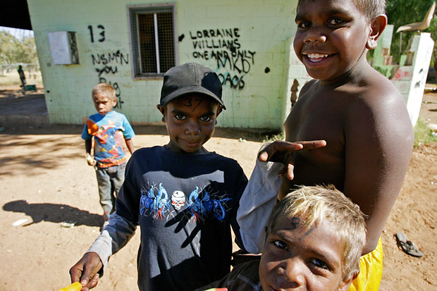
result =
[{"label": "face of the boy wearing the black cap", "polygon": [[202,154],[202,147],[213,135],[222,107],[210,97],[189,94],[157,106],[166,123],[168,149],[178,154]]}]

